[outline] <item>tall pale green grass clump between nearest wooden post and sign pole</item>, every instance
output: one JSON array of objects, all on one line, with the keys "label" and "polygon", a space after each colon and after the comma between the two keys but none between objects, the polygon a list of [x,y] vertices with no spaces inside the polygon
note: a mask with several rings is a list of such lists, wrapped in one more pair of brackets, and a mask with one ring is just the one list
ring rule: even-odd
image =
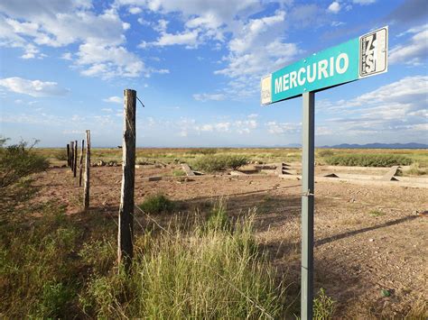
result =
[{"label": "tall pale green grass clump between nearest wooden post and sign pole", "polygon": [[196,226],[135,242],[133,273],[95,277],[80,301],[107,318],[281,317],[284,292],[265,256],[254,250],[252,217],[234,225],[233,233],[207,224],[202,233]]}]

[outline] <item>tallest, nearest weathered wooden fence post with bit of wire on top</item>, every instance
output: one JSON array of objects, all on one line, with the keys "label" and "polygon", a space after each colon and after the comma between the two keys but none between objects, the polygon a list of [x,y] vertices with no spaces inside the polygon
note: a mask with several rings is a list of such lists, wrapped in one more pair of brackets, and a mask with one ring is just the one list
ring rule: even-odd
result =
[{"label": "tallest, nearest weathered wooden fence post with bit of wire on top", "polygon": [[124,91],[123,175],[117,233],[117,261],[129,271],[133,258],[135,185],[135,102],[136,91]]}]

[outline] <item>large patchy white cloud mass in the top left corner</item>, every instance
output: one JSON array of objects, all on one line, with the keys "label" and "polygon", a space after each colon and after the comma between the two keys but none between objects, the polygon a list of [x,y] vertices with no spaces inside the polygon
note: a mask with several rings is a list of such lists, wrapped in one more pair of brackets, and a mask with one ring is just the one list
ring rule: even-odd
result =
[{"label": "large patchy white cloud mass in the top left corner", "polygon": [[[49,2],[2,2],[0,46],[23,48],[23,59],[43,58],[41,46],[64,47],[79,44],[79,52],[65,53],[62,59],[76,57],[85,76],[100,78],[137,77],[150,73],[144,62],[124,45],[123,22],[113,5],[97,14],[87,0]],[[70,54],[69,54],[70,53]]]}]

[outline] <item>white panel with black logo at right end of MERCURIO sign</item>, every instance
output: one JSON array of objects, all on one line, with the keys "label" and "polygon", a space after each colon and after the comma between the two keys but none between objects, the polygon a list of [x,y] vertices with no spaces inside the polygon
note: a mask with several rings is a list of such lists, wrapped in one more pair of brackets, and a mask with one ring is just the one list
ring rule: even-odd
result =
[{"label": "white panel with black logo at right end of MERCURIO sign", "polygon": [[388,27],[359,37],[358,78],[366,78],[388,70]]}]

